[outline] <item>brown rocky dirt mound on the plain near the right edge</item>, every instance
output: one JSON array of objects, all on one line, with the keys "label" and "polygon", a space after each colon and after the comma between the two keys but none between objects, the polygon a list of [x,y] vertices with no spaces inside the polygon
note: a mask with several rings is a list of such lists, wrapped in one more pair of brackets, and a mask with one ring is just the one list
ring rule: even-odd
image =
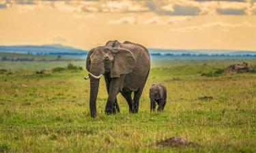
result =
[{"label": "brown rocky dirt mound on the plain near the right edge", "polygon": [[238,73],[245,73],[245,72],[252,72],[253,67],[251,65],[248,65],[248,63],[242,63],[242,64],[236,64],[236,65],[230,65],[225,69],[225,72],[231,73],[231,72],[238,72]]}]

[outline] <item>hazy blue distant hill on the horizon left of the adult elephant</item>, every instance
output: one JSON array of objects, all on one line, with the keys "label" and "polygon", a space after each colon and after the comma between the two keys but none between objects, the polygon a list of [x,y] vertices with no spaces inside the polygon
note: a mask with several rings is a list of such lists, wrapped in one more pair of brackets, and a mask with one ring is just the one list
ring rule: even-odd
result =
[{"label": "hazy blue distant hill on the horizon left of the adult elephant", "polygon": [[42,46],[0,46],[0,52],[12,52],[20,54],[48,54],[48,55],[66,55],[66,54],[87,54],[86,50],[63,46],[61,44],[46,44]]}]

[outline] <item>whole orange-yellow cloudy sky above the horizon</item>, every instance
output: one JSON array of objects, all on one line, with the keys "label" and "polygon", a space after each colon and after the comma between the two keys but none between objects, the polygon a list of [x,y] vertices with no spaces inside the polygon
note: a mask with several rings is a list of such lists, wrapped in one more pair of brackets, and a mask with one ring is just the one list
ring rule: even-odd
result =
[{"label": "whole orange-yellow cloudy sky above the horizon", "polygon": [[0,45],[256,51],[256,0],[0,0]]}]

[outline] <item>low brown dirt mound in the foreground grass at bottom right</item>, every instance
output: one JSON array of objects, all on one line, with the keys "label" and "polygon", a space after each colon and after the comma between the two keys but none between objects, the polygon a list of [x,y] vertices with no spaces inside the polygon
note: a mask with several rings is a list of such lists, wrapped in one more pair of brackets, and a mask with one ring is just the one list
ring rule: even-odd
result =
[{"label": "low brown dirt mound in the foreground grass at bottom right", "polygon": [[171,137],[169,139],[157,141],[156,146],[185,148],[185,147],[196,147],[196,146],[199,146],[199,144],[194,142],[188,142],[181,137]]}]

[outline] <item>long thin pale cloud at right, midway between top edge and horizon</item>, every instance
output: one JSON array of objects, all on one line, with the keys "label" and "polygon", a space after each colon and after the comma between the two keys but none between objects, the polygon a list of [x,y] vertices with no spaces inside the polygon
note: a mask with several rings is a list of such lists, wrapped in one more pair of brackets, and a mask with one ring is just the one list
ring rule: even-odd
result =
[{"label": "long thin pale cloud at right, midway between top edge and horizon", "polygon": [[227,29],[231,28],[237,28],[237,27],[256,27],[255,24],[251,24],[247,21],[237,23],[237,24],[231,24],[229,22],[208,22],[205,24],[202,24],[201,26],[189,26],[189,27],[182,27],[182,28],[174,28],[170,29],[172,32],[197,32],[197,31],[202,31],[204,29],[210,29],[214,27],[219,27],[221,28],[221,31],[227,32]]}]

